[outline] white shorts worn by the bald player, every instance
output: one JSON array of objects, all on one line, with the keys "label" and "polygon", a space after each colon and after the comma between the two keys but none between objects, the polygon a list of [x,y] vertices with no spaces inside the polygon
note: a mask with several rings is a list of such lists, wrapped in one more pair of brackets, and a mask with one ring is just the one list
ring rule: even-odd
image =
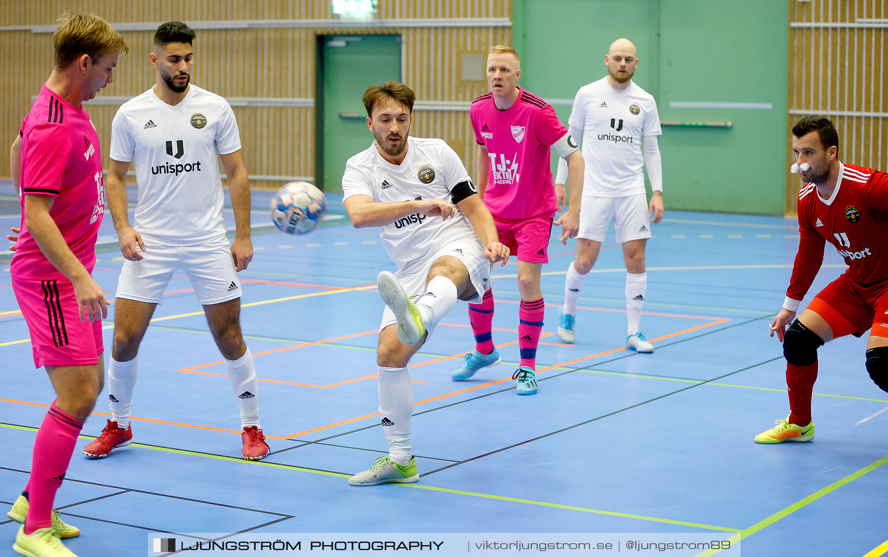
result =
[{"label": "white shorts worn by the bald player", "polygon": [[583,195],[580,232],[576,237],[604,242],[612,219],[617,243],[651,237],[651,218],[647,215],[645,194],[623,197]]}]

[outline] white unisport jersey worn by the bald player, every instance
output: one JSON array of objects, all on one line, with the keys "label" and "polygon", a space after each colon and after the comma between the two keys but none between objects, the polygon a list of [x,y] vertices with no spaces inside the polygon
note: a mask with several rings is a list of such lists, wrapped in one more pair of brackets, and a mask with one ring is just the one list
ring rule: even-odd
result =
[{"label": "white unisport jersey worn by the bald player", "polygon": [[584,195],[645,193],[641,139],[662,134],[657,104],[650,93],[635,83],[614,89],[607,77],[602,77],[576,93],[568,123],[583,130]]}]

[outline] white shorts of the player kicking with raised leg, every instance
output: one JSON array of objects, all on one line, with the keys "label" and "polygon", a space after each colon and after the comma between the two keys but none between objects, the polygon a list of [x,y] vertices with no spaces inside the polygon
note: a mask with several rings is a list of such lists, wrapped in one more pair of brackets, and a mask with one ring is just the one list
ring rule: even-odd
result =
[{"label": "white shorts of the player kicking with raised leg", "polygon": [[[394,275],[408,296],[422,294],[425,292],[425,281],[428,279],[432,264],[445,255],[454,257],[459,259],[466,270],[469,271],[469,281],[475,287],[475,295],[464,301],[474,302],[480,300],[484,292],[490,288],[490,261],[484,257],[484,249],[484,246],[478,240],[456,240],[436,251],[432,257],[425,259],[422,264],[410,267],[406,272],[399,269]],[[389,306],[385,306],[383,320],[379,323],[379,330],[385,329],[393,322],[395,322],[394,314]],[[434,330],[434,326],[428,329],[430,335],[432,330]]]}]

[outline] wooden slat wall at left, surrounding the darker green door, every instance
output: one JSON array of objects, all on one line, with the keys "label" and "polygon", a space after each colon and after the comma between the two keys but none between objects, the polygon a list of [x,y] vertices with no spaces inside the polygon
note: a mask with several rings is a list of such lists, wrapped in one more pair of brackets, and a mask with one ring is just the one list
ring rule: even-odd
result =
[{"label": "wooden slat wall at left, surrounding the darker green door", "polygon": [[[0,26],[52,25],[64,10],[93,12],[112,23],[166,20],[319,20],[329,28],[258,28],[197,30],[192,81],[224,97],[311,99],[314,94],[315,36],[319,34],[398,33],[404,37],[404,82],[421,101],[469,101],[487,92],[484,76],[475,83],[459,81],[459,55],[487,52],[492,44],[508,44],[511,29],[361,28],[334,19],[329,0],[290,0],[278,3],[209,0],[31,0],[4,2]],[[274,5],[273,5],[274,4]],[[509,18],[511,0],[379,0],[381,19]],[[135,96],[154,84],[147,59],[153,31],[126,31],[131,53],[115,70],[115,83],[100,95]],[[52,36],[29,31],[0,31],[0,49],[15,52],[20,72],[0,83],[4,109],[0,115],[0,176],[9,175],[9,150],[31,98],[52,70]],[[479,68],[483,72],[483,68]],[[107,163],[111,120],[117,107],[88,106],[99,131]],[[234,107],[241,128],[243,155],[253,175],[313,176],[313,107]],[[474,140],[467,111],[417,110],[413,134],[446,139],[474,166]],[[279,182],[254,181],[276,187]]]}]

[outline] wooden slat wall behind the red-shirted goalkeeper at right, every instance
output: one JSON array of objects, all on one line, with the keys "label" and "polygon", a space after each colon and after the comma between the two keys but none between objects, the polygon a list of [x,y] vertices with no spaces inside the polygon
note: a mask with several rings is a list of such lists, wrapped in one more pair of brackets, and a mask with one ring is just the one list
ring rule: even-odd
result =
[{"label": "wooden slat wall behind the red-shirted goalkeeper at right", "polygon": [[[888,18],[884,0],[789,0],[797,23],[851,23]],[[885,28],[789,28],[789,109],[888,113]],[[839,159],[888,171],[888,117],[828,114],[836,123]],[[787,138],[801,115],[790,114]],[[787,166],[793,163],[787,155]],[[800,180],[787,172],[788,213],[795,213]]]}]

